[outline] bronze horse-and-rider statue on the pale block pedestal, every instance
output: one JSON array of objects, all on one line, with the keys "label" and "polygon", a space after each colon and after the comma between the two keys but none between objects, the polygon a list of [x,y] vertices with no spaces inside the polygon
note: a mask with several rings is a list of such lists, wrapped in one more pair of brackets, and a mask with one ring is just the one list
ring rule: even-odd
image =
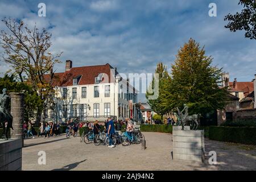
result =
[{"label": "bronze horse-and-rider statue on the pale block pedestal", "polygon": [[[188,123],[192,123],[193,127],[192,127],[192,130],[196,130],[199,123],[198,123],[198,119],[200,117],[200,114],[193,114],[193,115],[188,115],[188,106],[186,104],[183,105],[184,106],[184,109],[182,111],[179,110],[178,107],[176,107],[177,109],[177,113],[179,115],[179,118],[180,118],[180,125],[182,126],[182,129],[181,130],[184,130],[184,126]],[[183,111],[184,114],[183,114]]]}]

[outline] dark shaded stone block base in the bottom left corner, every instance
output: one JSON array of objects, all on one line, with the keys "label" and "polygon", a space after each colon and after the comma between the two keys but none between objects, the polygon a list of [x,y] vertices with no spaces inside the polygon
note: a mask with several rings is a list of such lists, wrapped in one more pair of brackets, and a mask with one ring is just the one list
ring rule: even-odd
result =
[{"label": "dark shaded stone block base in the bottom left corner", "polygon": [[22,170],[22,139],[0,141],[0,171]]}]

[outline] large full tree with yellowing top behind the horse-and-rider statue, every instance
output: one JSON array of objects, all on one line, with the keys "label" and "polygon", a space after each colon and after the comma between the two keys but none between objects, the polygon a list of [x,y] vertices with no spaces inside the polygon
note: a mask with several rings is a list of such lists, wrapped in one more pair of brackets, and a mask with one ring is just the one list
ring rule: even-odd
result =
[{"label": "large full tree with yellowing top behind the horse-and-rider statue", "polygon": [[228,88],[220,88],[222,69],[213,67],[212,60],[193,39],[179,49],[172,64],[169,109],[187,104],[190,114],[205,114],[226,106]]}]

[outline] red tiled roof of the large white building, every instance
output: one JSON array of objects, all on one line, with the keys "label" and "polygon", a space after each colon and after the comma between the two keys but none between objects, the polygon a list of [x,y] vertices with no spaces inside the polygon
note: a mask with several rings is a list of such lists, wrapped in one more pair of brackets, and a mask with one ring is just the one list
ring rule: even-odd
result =
[{"label": "red tiled roof of the large white building", "polygon": [[[105,73],[110,78],[112,76],[110,69],[113,67],[110,64],[94,65],[87,67],[75,67],[63,73],[55,73],[54,86],[72,86],[73,78],[81,76],[77,85],[90,85],[95,83],[95,77],[100,73]],[[45,75],[46,80],[49,80],[49,75]]]}]

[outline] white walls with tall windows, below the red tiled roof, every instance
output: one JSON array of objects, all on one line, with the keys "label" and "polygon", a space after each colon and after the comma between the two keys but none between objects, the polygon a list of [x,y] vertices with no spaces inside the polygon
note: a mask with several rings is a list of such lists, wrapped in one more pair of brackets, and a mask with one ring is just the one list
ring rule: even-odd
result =
[{"label": "white walls with tall windows, below the red tiled roof", "polygon": [[[132,118],[133,111],[131,111],[129,103],[137,103],[137,93],[135,93],[137,90],[130,84],[127,89],[126,80],[115,79],[110,83],[90,85],[77,84],[55,88],[56,108],[47,111],[47,119],[64,122],[70,118],[80,118],[80,121],[95,121],[97,119],[102,122],[108,117]],[[98,90],[98,92],[94,90]]]}]

